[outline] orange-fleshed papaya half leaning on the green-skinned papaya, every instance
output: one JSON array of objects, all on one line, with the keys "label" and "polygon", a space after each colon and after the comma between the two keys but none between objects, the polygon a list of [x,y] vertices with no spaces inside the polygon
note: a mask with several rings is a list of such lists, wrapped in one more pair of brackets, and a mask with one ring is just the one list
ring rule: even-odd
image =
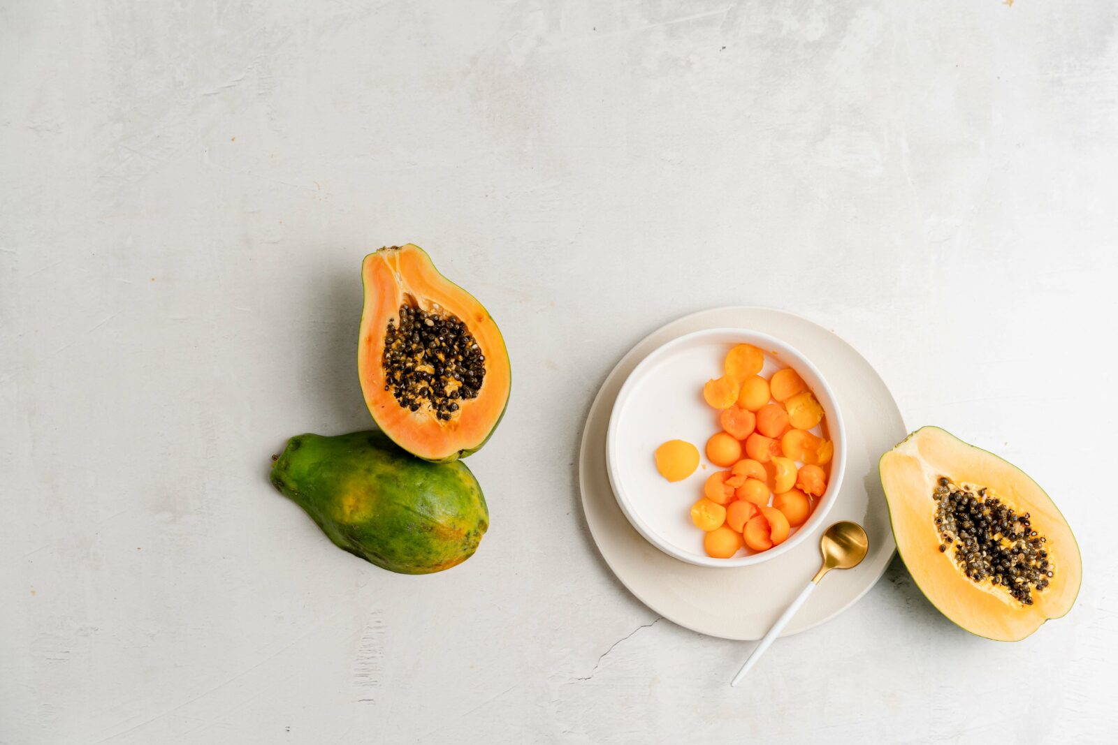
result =
[{"label": "orange-fleshed papaya half leaning on the green-skinned papaya", "polygon": [[504,416],[512,388],[496,323],[418,246],[366,256],[361,279],[357,364],[377,426],[424,460],[476,451]]}]

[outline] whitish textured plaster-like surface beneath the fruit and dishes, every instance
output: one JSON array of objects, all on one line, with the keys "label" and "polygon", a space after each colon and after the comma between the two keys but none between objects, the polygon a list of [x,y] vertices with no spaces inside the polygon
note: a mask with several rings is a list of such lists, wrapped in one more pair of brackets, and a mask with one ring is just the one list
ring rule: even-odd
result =
[{"label": "whitish textured plaster-like surface beneath the fruit and dishes", "polygon": [[[1111,0],[0,3],[0,742],[1112,741],[1116,60]],[[419,579],[264,477],[368,423],[358,262],[409,240],[517,371]],[[626,594],[582,418],[742,302],[1048,485],[1072,614],[988,642],[894,565],[731,690],[748,644]]]}]

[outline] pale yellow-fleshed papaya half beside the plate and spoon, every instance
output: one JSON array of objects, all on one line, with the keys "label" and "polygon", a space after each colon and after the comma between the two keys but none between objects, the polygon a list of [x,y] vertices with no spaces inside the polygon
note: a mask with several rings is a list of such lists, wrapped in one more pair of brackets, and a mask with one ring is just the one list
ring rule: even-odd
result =
[{"label": "pale yellow-fleshed papaya half beside the plate and spoon", "polygon": [[897,551],[953,622],[1017,641],[1074,605],[1079,545],[1052,499],[1020,468],[925,427],[881,457],[880,474]]}]

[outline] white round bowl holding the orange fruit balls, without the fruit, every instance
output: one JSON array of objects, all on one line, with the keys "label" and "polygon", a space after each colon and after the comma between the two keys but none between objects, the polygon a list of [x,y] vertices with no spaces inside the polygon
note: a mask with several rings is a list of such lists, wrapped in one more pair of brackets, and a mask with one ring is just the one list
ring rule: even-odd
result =
[{"label": "white round bowl holding the orange fruit balls, without the fruit", "polygon": [[[705,458],[707,440],[721,428],[718,412],[702,398],[702,386],[723,374],[726,353],[742,343],[765,352],[761,374],[766,378],[780,367],[792,367],[807,383],[824,412],[822,426],[813,431],[834,442],[834,456],[826,491],[807,522],[793,528],[784,543],[760,553],[746,548],[745,555],[739,552],[730,558],[713,558],[703,550],[703,532],[690,516],[691,505],[703,496],[707,477],[722,470]],[[699,448],[702,466],[682,481],[667,481],[656,470],[654,452],[667,440],[686,440]],[[606,432],[606,468],[625,517],[652,545],[700,566],[751,566],[792,551],[823,525],[842,486],[845,466],[842,413],[823,375],[792,346],[743,328],[686,334],[645,357],[617,394]]]}]

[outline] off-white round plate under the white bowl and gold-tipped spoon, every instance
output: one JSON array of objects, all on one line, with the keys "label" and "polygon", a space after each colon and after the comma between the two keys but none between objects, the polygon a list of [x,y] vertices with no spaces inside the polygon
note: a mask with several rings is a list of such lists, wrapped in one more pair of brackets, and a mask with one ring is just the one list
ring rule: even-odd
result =
[{"label": "off-white round plate under the white bowl and gold-tipped spoon", "polygon": [[870,536],[856,569],[831,572],[785,629],[797,633],[852,605],[881,577],[896,544],[878,458],[907,434],[897,403],[873,367],[849,344],[805,318],[771,308],[703,311],[641,341],[606,378],[590,407],[579,456],[582,508],[606,563],[652,610],[682,627],[724,639],[760,639],[818,569],[816,526],[794,550],[755,566],[711,569],[657,550],[637,533],[614,498],[606,471],[606,429],[622,384],[661,345],[704,328],[743,328],[779,338],[818,367],[834,391],[845,426],[846,476],[827,524],[850,519]]}]

